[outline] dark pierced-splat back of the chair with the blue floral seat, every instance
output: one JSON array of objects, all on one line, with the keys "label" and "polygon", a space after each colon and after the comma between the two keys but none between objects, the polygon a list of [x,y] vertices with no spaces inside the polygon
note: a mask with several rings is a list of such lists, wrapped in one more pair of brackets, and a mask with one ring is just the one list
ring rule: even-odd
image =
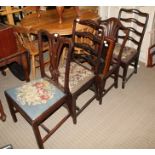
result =
[{"label": "dark pierced-splat back of the chair with the blue floral seat", "polygon": [[[44,63],[44,38],[46,37],[47,44],[49,46],[49,59],[50,64],[48,70],[45,68]],[[61,88],[64,92],[69,92],[69,69],[70,69],[70,57],[71,57],[71,49],[72,42],[66,37],[60,37],[59,34],[50,34],[46,30],[40,30],[38,32],[38,40],[39,40],[39,61],[40,61],[40,70],[41,76],[43,78],[48,78],[52,80],[59,88]],[[63,74],[60,71],[62,67],[61,56],[63,51],[66,52],[66,60],[64,62],[64,80],[63,84],[60,83],[60,75]]]}]

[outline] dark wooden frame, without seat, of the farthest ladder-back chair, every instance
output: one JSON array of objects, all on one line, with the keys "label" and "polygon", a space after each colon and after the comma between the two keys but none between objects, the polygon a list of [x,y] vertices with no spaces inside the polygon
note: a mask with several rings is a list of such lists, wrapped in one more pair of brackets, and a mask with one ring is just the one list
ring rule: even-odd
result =
[{"label": "dark wooden frame, without seat, of the farthest ladder-back chair", "polygon": [[[131,16],[129,17],[129,15]],[[138,18],[135,16],[137,16]],[[144,21],[141,21],[141,18],[143,18]],[[119,75],[119,77],[122,78],[122,88],[124,88],[125,83],[130,79],[130,77],[134,73],[137,73],[141,45],[146,31],[149,15],[137,9],[121,8],[118,14],[118,19],[123,23],[123,25],[125,23],[136,24],[136,28],[128,26],[128,29],[130,30],[128,41],[131,41],[135,46],[137,46],[137,48],[135,48],[136,53],[134,55],[132,54],[131,58],[129,58],[129,60],[127,61],[121,59],[121,68],[123,69],[123,74]],[[131,33],[133,33],[134,35],[130,35]],[[139,37],[139,40],[137,40],[135,36]],[[124,52],[126,52],[126,50],[124,50],[123,53]],[[129,75],[127,75],[129,66],[133,67],[133,71]]]}]

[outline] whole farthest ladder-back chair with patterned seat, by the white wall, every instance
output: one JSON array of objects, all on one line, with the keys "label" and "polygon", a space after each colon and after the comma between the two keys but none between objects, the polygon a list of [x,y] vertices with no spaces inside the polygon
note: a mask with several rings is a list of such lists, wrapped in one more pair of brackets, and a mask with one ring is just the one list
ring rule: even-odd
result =
[{"label": "whole farthest ladder-back chair with patterned seat, by the white wall", "polygon": [[[128,45],[125,46],[121,58],[121,68],[123,69],[123,73],[120,77],[122,78],[122,88],[124,88],[125,83],[129,78],[134,73],[137,73],[141,45],[149,15],[137,9],[121,8],[118,19],[130,30],[127,41]],[[117,55],[117,50],[115,51],[115,55]],[[128,71],[129,66],[132,66],[131,68],[133,68],[131,72]]]}]

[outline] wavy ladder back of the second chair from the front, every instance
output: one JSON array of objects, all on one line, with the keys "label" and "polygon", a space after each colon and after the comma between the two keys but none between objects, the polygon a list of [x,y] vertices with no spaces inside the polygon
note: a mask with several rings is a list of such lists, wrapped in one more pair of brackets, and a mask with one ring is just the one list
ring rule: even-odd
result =
[{"label": "wavy ladder back of the second chair from the front", "polygon": [[[72,31],[72,61],[76,61],[94,73],[98,72],[103,48],[103,27],[93,20],[75,19]],[[76,49],[79,53],[76,53]]]}]

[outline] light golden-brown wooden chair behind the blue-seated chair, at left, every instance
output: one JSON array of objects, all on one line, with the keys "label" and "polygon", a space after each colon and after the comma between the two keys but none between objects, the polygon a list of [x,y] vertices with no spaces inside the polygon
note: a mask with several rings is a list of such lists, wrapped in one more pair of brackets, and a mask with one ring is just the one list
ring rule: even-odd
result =
[{"label": "light golden-brown wooden chair behind the blue-seated chair, at left", "polygon": [[[34,36],[31,34],[30,29],[26,29],[21,26],[14,26],[15,30],[15,36],[17,38],[17,41],[21,46],[26,48],[31,57],[31,68],[32,68],[32,79],[36,78],[36,68],[39,67],[39,49],[38,49],[38,39],[37,37],[34,38]],[[44,52],[48,52],[48,45],[46,42],[44,42]],[[49,62],[47,56],[45,55],[45,64]]]}]

